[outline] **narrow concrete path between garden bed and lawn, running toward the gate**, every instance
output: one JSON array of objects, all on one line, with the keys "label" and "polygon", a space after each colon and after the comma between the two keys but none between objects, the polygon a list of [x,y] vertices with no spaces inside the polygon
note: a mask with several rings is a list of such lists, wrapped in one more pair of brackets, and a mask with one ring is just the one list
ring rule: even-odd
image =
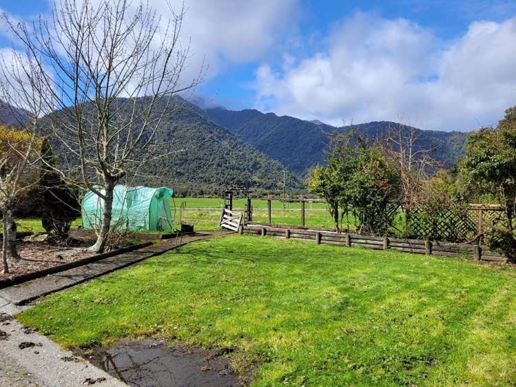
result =
[{"label": "narrow concrete path between garden bed and lawn, running toward the gate", "polygon": [[114,257],[105,258],[91,264],[61,271],[61,273],[47,275],[46,277],[37,278],[36,280],[24,282],[23,284],[0,289],[0,313],[12,315],[21,311],[19,306],[28,304],[28,302],[36,300],[43,295],[67,289],[70,286],[81,284],[100,275],[122,269],[130,264],[140,262],[154,255],[165,253],[166,251],[183,246],[189,242],[209,238],[218,234],[220,234],[220,232],[206,232],[196,233],[192,236],[183,236],[182,238],[173,238],[152,244],[152,246],[143,247],[143,249],[115,255]]}]

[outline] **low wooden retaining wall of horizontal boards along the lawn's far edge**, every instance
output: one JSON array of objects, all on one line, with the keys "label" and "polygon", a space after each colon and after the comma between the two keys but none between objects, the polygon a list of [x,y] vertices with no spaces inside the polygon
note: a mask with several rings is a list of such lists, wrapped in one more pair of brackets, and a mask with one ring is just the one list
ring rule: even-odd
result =
[{"label": "low wooden retaining wall of horizontal boards along the lawn's far edge", "polygon": [[245,226],[240,228],[240,233],[254,236],[313,240],[316,243],[335,244],[337,246],[362,246],[375,250],[396,249],[404,253],[443,255],[446,257],[467,254],[475,261],[507,262],[506,256],[497,253],[497,251],[492,251],[487,246],[477,244],[391,237],[382,238],[354,233],[336,233],[335,231],[257,223],[245,224]]}]

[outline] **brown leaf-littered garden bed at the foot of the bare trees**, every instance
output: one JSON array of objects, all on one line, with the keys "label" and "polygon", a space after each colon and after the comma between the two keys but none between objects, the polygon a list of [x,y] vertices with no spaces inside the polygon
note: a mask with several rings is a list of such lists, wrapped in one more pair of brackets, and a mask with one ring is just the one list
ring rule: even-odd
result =
[{"label": "brown leaf-littered garden bed at the foot of the bare trees", "polygon": [[86,247],[92,245],[90,240],[70,240],[67,244],[34,241],[25,238],[17,243],[20,260],[9,260],[9,273],[1,274],[0,280],[8,280],[87,258],[93,253]]}]

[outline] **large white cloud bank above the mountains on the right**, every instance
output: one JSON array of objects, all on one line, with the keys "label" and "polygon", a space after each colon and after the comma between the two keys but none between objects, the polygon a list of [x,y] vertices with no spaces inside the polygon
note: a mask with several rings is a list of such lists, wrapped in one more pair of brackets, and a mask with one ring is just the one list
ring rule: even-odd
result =
[{"label": "large white cloud bank above the mountains on the right", "polygon": [[357,13],[329,33],[326,49],[256,74],[258,108],[330,123],[396,121],[468,130],[516,105],[516,17],[477,21],[440,41],[406,19]]}]

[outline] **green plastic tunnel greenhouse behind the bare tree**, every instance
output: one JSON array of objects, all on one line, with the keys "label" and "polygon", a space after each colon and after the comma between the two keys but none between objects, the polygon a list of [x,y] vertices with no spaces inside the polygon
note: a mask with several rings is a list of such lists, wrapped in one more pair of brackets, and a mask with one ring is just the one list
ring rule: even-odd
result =
[{"label": "green plastic tunnel greenhouse behind the bare tree", "polygon": [[[167,187],[126,187],[116,185],[113,194],[111,225],[115,229],[131,231],[167,231],[174,229],[170,198],[174,191]],[[82,220],[85,229],[99,229],[104,200],[87,191],[82,201]]]}]

